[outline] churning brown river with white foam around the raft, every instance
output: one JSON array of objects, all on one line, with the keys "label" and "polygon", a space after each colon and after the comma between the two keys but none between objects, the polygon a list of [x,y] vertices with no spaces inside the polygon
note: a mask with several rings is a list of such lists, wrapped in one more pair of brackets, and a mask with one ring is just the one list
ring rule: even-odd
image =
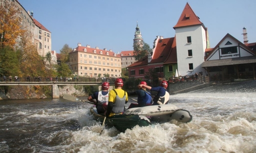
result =
[{"label": "churning brown river with white foam around the raft", "polygon": [[[131,103],[133,101],[129,101]],[[171,95],[193,115],[118,132],[66,99],[0,101],[0,152],[256,152],[256,81]],[[129,105],[129,104],[128,104]]]}]

